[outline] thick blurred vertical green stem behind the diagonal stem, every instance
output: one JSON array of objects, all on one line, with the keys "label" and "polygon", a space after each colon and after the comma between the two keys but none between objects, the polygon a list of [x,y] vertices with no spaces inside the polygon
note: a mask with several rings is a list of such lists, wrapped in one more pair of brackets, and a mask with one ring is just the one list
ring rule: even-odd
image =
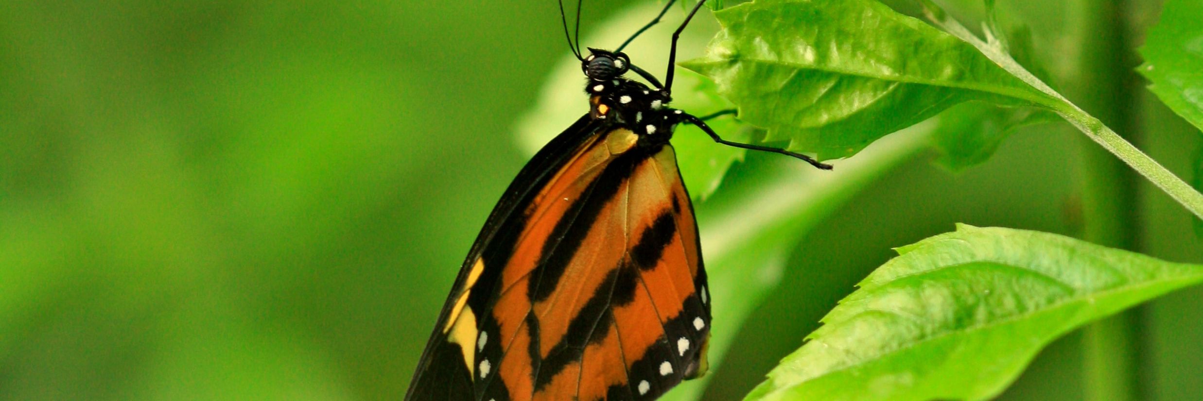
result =
[{"label": "thick blurred vertical green stem behind the diagonal stem", "polygon": [[[1127,6],[1126,1],[1078,0],[1069,6],[1074,8],[1071,18],[1078,28],[1073,34],[1078,38],[1077,47],[1080,49],[1074,68],[1079,74],[1072,85],[1071,95],[1078,98],[1083,108],[1106,119],[1121,132],[1134,136],[1138,131],[1132,104],[1136,98],[1132,71],[1136,62],[1128,53],[1128,26],[1121,17],[1125,14],[1121,11]],[[1103,146],[1098,149],[1086,142],[1083,142],[1081,146],[1079,173],[1085,223],[1083,239],[1100,245],[1134,250],[1138,228],[1136,179],[1131,170],[1112,155],[1120,156],[1130,164],[1132,161],[1144,162],[1142,167],[1133,164],[1137,170],[1158,172],[1160,168],[1160,172],[1165,172],[1165,168],[1077,106],[1073,106],[1071,112],[1077,113],[1069,115],[1062,112],[1062,116]],[[1160,180],[1150,178],[1154,182],[1165,179],[1177,178],[1172,174],[1161,176]],[[1142,321],[1140,315],[1140,310],[1134,309],[1084,328],[1081,347],[1085,400],[1142,399],[1140,381],[1137,375],[1138,349],[1140,349],[1137,328]]]}]

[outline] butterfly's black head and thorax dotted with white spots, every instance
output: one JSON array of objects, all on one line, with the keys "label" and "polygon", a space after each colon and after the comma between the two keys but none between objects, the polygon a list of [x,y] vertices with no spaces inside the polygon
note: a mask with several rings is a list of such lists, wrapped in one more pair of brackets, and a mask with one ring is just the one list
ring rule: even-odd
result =
[{"label": "butterfly's black head and thorax dotted with white spots", "polygon": [[626,54],[589,50],[593,54],[581,62],[588,77],[585,92],[589,95],[589,116],[630,130],[644,145],[668,143],[682,115],[668,107],[672,100],[669,94],[623,78],[630,66]]}]

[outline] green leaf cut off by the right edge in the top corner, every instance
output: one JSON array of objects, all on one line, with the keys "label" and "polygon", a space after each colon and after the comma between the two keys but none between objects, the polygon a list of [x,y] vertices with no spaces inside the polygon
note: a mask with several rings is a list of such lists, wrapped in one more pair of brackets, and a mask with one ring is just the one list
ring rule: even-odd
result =
[{"label": "green leaf cut off by the right edge in the top corner", "polygon": [[1203,130],[1203,2],[1167,0],[1149,29],[1138,71],[1174,113]]}]

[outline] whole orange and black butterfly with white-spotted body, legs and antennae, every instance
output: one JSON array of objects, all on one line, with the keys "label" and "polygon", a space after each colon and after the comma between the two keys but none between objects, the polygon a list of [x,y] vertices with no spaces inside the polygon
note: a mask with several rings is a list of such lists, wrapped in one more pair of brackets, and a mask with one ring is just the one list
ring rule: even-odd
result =
[{"label": "whole orange and black butterfly with white-spotted body, legs and antennae", "polygon": [[[417,364],[410,401],[653,400],[706,372],[710,294],[669,138],[703,119],[622,53],[569,37],[589,113],[543,148],[488,216]],[[577,5],[580,10],[580,5]],[[579,12],[577,12],[579,13]],[[568,35],[567,18],[564,32]],[[580,23],[577,22],[577,25]],[[623,77],[628,71],[654,88]]]}]

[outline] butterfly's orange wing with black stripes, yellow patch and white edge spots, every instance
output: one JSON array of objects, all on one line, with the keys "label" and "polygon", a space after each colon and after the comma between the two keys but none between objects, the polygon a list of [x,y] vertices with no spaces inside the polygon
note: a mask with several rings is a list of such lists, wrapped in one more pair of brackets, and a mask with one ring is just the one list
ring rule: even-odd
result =
[{"label": "butterfly's orange wing with black stripes, yellow patch and white edge spots", "polygon": [[470,389],[423,391],[651,400],[704,372],[710,309],[692,205],[672,148],[638,139],[623,128],[582,139],[518,205],[497,234],[512,245],[470,264],[440,327],[435,351],[467,366],[432,377],[470,376]]}]

